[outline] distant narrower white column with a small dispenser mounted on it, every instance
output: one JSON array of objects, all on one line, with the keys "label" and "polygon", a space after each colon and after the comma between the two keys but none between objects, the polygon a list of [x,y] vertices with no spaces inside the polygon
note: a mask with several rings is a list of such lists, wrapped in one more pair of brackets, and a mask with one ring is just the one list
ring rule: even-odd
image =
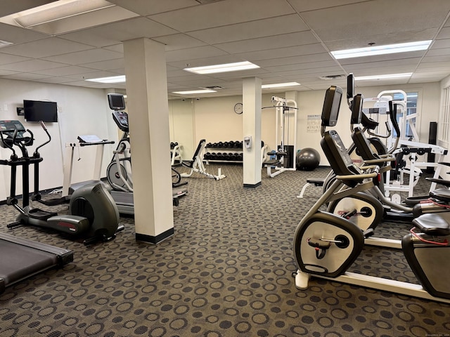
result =
[{"label": "distant narrower white column with a small dispenser mounted on it", "polygon": [[243,79],[243,136],[251,137],[251,147],[243,142],[244,187],[261,185],[261,79]]}]

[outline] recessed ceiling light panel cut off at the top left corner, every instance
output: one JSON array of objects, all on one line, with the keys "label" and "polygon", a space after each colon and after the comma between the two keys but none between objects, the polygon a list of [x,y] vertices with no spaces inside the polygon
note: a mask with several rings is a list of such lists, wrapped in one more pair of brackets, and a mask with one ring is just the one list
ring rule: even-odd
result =
[{"label": "recessed ceiling light panel cut off at the top left corner", "polygon": [[115,6],[105,0],[59,0],[10,15],[21,27],[30,28],[71,16]]}]

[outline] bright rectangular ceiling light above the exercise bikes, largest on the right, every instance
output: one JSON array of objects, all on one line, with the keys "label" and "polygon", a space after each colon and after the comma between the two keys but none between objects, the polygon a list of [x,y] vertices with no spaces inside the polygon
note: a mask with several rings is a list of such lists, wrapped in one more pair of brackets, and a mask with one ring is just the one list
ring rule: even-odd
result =
[{"label": "bright rectangular ceiling light above the exercise bikes, largest on the right", "polygon": [[332,51],[335,59],[361,58],[363,56],[383,55],[393,53],[404,53],[406,51],[424,51],[428,49],[432,40],[407,42],[405,44],[387,44],[385,46],[371,46],[365,48],[346,49],[343,51]]}]

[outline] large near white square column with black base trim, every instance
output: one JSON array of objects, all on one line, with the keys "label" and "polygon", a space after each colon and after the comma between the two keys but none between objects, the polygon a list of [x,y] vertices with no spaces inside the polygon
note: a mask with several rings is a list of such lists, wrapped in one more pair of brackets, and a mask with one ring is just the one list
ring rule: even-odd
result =
[{"label": "large near white square column with black base trim", "polygon": [[174,233],[165,47],[124,41],[124,60],[136,240],[156,244]]}]

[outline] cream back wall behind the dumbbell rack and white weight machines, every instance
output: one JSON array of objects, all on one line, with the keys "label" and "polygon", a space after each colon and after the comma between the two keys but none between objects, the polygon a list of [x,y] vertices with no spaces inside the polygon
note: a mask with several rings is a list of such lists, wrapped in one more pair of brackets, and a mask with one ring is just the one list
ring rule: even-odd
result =
[{"label": "cream back wall behind the dumbbell rack and white weight machines", "polygon": [[[331,83],[330,83],[331,85]],[[346,88],[343,88],[346,90]],[[439,121],[439,97],[440,86],[439,83],[423,83],[403,86],[383,86],[383,87],[356,87],[356,93],[362,93],[364,97],[375,97],[380,91],[400,89],[404,91],[418,91],[418,106],[417,112],[419,114],[416,122],[416,129],[419,133],[420,141],[428,143],[428,133],[430,121]],[[283,97],[283,94],[276,93],[274,95]],[[320,130],[316,132],[308,132],[307,121],[308,116],[320,115],[322,112],[323,98],[325,90],[316,91],[298,91],[297,92],[297,150],[304,147],[313,147],[321,154],[321,165],[328,165],[320,147],[321,134]],[[270,102],[272,94],[264,94],[262,97],[262,106],[267,107],[273,105]],[[176,106],[173,103],[173,118],[177,118],[176,110],[181,108],[181,105]],[[178,101],[178,102],[181,102]],[[192,152],[185,151],[184,159],[191,159],[193,150],[200,139],[205,138],[207,143],[216,143],[227,140],[242,140],[242,116],[233,112],[233,107],[236,103],[242,102],[242,96],[231,96],[221,98],[202,98],[200,100],[186,100],[190,102],[191,106],[184,107],[184,114],[193,114],[193,134],[194,145],[191,145]],[[244,107],[245,111],[245,107]],[[178,112],[181,114],[181,112]],[[345,98],[342,99],[340,108],[340,119],[335,129],[340,133],[340,136],[345,143],[351,143],[350,127],[349,127],[350,112]],[[262,140],[269,145],[269,149],[276,149],[275,142],[275,109],[262,110]],[[188,130],[188,128],[186,128]],[[293,128],[291,128],[290,132]],[[189,132],[189,131],[188,131]],[[176,136],[175,136],[176,138]],[[186,138],[187,139],[187,138]],[[188,148],[187,144],[184,144]]]}]

